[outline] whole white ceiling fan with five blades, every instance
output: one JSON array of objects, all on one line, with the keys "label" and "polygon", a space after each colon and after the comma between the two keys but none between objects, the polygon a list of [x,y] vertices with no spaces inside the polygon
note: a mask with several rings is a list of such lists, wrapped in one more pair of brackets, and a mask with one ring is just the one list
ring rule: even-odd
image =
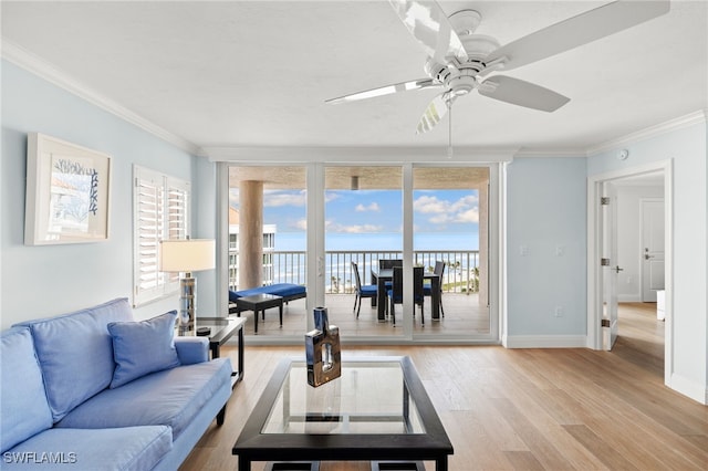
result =
[{"label": "whole white ceiling fan with five blades", "polygon": [[632,28],[669,11],[668,0],[618,0],[552,24],[500,46],[489,35],[475,34],[481,21],[476,10],[449,18],[435,1],[388,0],[400,21],[420,43],[428,60],[427,77],[327,100],[344,103],[413,90],[440,88],[428,104],[417,134],[430,130],[460,96],[480,95],[528,108],[554,112],[570,98],[519,78],[491,75],[510,71]]}]

